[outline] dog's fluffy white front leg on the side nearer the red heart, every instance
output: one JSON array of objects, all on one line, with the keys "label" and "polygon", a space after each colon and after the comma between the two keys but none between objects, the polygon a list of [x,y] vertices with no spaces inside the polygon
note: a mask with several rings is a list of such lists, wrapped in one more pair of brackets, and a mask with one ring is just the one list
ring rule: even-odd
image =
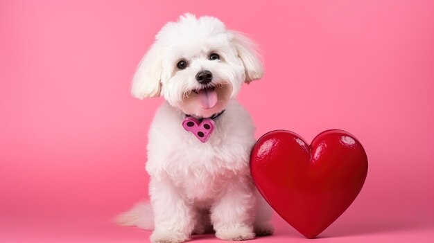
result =
[{"label": "dog's fluffy white front leg on the side nearer the red heart", "polygon": [[226,190],[211,208],[216,237],[221,240],[253,239],[255,207],[253,184],[248,175],[228,181]]}]

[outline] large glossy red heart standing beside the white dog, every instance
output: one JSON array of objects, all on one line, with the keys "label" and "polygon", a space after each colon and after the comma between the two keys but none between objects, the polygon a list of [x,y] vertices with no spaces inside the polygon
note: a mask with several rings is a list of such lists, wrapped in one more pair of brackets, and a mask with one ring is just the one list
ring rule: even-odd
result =
[{"label": "large glossy red heart standing beside the white dog", "polygon": [[268,132],[254,145],[250,170],[261,195],[288,224],[313,238],[356,199],[367,174],[360,142],[328,130],[311,145],[284,130]]}]

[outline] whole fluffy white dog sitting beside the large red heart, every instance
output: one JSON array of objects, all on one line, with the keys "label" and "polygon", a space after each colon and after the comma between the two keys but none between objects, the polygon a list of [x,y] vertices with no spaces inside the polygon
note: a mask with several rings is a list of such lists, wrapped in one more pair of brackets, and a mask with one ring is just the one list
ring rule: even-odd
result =
[{"label": "whole fluffy white dog sitting beside the large red heart", "polygon": [[159,31],[132,82],[134,97],[166,100],[148,134],[150,204],[120,224],[153,229],[151,242],[213,228],[222,240],[272,234],[271,210],[250,176],[254,124],[234,99],[262,75],[252,42],[215,17],[186,14]]}]

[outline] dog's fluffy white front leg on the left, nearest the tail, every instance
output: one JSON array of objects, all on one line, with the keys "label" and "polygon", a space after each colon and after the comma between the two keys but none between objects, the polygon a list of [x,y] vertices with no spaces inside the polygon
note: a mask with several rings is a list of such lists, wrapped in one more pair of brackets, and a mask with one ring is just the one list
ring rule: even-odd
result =
[{"label": "dog's fluffy white front leg on the left, nearest the tail", "polygon": [[150,202],[155,214],[153,243],[180,243],[189,240],[194,228],[192,209],[169,179],[150,181]]}]

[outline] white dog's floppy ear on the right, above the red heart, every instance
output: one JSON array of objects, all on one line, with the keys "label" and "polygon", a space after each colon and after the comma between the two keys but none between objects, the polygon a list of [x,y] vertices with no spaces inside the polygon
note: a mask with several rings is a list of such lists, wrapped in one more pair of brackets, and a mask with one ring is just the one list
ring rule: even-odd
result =
[{"label": "white dog's floppy ear on the right, above the red heart", "polygon": [[256,51],[256,46],[252,40],[236,31],[231,31],[232,43],[235,45],[238,56],[241,58],[245,69],[245,82],[259,80],[263,75],[263,63]]}]

